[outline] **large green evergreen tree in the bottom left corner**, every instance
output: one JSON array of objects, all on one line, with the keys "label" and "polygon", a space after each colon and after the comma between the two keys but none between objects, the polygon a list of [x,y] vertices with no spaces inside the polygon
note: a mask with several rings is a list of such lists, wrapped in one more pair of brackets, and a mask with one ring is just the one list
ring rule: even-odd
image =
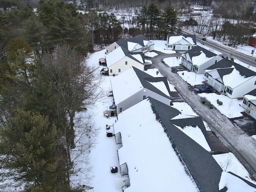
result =
[{"label": "large green evergreen tree in the bottom left corner", "polygon": [[26,191],[57,191],[56,127],[47,117],[18,110],[0,135],[5,176],[22,182]]}]

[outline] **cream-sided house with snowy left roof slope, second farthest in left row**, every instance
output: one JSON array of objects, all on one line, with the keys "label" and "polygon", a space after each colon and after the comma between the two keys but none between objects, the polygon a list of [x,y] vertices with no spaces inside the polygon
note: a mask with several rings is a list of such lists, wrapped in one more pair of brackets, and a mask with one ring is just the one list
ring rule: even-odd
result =
[{"label": "cream-sided house with snowy left roof slope, second farthest in left row", "polygon": [[145,60],[142,52],[132,53],[122,47],[118,47],[106,55],[106,62],[108,75],[119,75],[132,66],[143,71]]}]

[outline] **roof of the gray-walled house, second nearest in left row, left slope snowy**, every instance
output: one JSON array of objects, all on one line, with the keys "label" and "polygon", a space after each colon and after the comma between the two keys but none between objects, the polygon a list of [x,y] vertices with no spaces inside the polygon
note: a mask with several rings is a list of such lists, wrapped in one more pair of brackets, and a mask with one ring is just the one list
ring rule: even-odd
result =
[{"label": "roof of the gray-walled house, second nearest in left row, left slope snowy", "polygon": [[[170,88],[166,77],[153,77],[131,67],[111,80],[115,103],[118,104],[143,88],[169,99]],[[166,94],[168,92],[168,94]]]}]

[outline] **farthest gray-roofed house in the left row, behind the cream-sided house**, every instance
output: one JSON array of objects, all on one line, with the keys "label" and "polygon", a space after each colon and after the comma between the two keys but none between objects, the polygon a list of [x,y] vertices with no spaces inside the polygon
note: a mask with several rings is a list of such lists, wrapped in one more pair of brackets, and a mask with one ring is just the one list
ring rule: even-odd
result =
[{"label": "farthest gray-roofed house in the left row, behind the cream-sided house", "polygon": [[116,41],[106,47],[106,54],[114,51],[118,47],[123,47],[130,52],[148,52],[154,50],[154,43],[150,41],[146,36],[140,35],[120,41]]}]

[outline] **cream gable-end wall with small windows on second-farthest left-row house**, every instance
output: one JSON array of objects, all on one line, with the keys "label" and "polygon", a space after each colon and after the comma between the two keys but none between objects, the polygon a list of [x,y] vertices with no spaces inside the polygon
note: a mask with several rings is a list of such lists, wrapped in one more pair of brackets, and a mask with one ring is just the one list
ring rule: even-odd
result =
[{"label": "cream gable-end wall with small windows on second-farthest left-row house", "polygon": [[[127,65],[125,64],[126,61],[127,61]],[[113,65],[109,66],[108,74],[109,75],[113,75],[113,74],[118,75],[118,74],[124,72],[125,70],[129,69],[132,66],[138,68],[139,70],[144,71],[143,64],[126,56],[126,57],[122,58],[121,60],[119,60],[118,62],[114,63]],[[118,69],[120,69],[121,71],[118,72]],[[111,70],[112,70],[112,72],[110,72]]]}]

